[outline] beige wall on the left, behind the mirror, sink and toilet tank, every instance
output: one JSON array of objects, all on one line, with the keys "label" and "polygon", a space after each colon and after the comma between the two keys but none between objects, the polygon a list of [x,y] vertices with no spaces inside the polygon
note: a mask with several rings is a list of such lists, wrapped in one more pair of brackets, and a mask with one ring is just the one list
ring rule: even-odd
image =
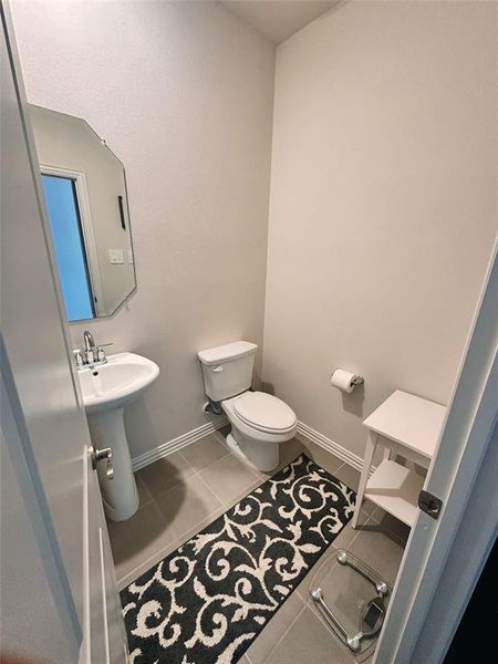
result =
[{"label": "beige wall on the left, behind the mirror, sink and toilet tank", "polygon": [[206,422],[197,350],[261,344],[274,49],[207,2],[14,2],[29,102],[84,117],[123,160],[138,290],[89,328],[162,370],[132,454]]}]

